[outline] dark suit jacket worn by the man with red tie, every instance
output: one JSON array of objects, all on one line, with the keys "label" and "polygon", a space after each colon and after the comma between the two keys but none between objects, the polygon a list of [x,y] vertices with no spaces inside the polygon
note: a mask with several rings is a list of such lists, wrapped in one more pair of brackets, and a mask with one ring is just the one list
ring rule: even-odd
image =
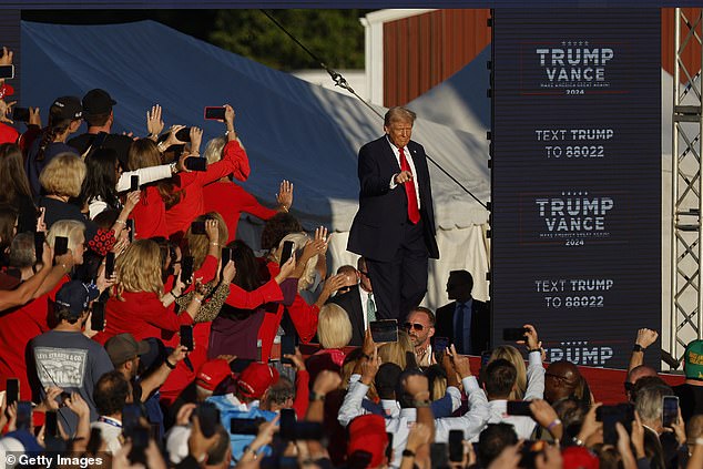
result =
[{"label": "dark suit jacket worn by the man with red tie", "polygon": [[[439,258],[435,239],[435,210],[425,149],[410,141],[408,150],[415,164],[420,192],[425,245],[429,257]],[[359,150],[359,210],[349,231],[347,249],[367,258],[389,262],[394,257],[408,216],[408,201],[403,187],[389,188],[390,179],[400,172],[386,136]]]}]

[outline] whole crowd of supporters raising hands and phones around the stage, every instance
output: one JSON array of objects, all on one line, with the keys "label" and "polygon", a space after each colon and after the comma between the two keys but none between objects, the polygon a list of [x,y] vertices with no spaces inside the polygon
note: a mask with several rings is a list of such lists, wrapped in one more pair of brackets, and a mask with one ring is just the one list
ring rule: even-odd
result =
[{"label": "whole crowd of supporters raising hands and phones around the stage", "polygon": [[[370,290],[363,259],[330,275],[291,182],[276,207],[235,182],[251,169],[232,106],[205,143],[159,105],[144,136],[112,133],[101,89],[57,98],[47,122],[13,122],[11,96],[0,83],[0,463],[703,468],[703,341],[672,388],[643,365],[656,333],[638,332],[609,406],[573,364],[543,364],[530,324],[480,367],[421,345],[427,308],[376,343],[334,302]],[[242,213],[265,221],[261,255],[236,237]]]}]

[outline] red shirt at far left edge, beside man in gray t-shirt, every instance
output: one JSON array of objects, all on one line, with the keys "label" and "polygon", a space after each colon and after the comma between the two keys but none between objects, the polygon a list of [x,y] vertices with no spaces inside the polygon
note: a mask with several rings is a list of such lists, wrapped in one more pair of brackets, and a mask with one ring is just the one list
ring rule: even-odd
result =
[{"label": "red shirt at far left edge, beside man in gray t-shirt", "polygon": [[[57,292],[69,282],[62,277],[57,286],[39,298],[20,306],[11,313],[0,316],[0,389],[6,388],[8,378],[20,380],[20,398],[32,400],[32,389],[27,377],[27,344],[34,337],[51,329],[49,318],[53,322],[53,307]],[[50,303],[51,300],[51,303]]]}]

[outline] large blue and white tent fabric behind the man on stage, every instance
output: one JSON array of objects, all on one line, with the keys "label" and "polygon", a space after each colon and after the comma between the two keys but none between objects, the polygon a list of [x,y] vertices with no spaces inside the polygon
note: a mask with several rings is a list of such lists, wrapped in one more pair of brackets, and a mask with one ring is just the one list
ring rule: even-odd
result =
[{"label": "large blue and white tent fabric behind the man on stage", "polygon": [[[60,95],[82,96],[102,88],[118,101],[113,131],[146,133],[144,115],[154,103],[166,124],[202,126],[205,139],[222,124],[203,121],[205,105],[231,103],[252,175],[243,186],[273,205],[278,183],[295,184],[294,214],[306,228],[334,230],[332,268],[356,262],[346,238],[357,208],[358,147],[383,133],[381,120],[356,99],[312,85],[287,73],[223,51],[162,24],[143,21],[111,26],[22,23],[22,103],[47,115]],[[451,110],[457,102],[437,102]],[[384,109],[378,109],[383,114]],[[452,129],[425,119],[414,140],[466,185],[488,201],[489,170],[485,129],[475,122]],[[488,255],[482,225],[488,212],[430,165],[441,258],[430,265],[426,304],[446,303],[448,272],[467,268],[475,296],[486,299]],[[240,237],[258,246],[261,222],[241,225]]]}]

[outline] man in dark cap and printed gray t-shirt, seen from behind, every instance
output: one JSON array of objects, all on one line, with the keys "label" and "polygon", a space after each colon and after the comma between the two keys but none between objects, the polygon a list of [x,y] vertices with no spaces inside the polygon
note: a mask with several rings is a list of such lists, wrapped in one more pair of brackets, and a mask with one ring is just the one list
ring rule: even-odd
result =
[{"label": "man in dark cap and printed gray t-shirt, seen from behind", "polygon": [[[93,285],[72,281],[57,293],[54,314],[58,325],[34,337],[28,346],[28,375],[35,402],[43,399],[50,387],[63,392],[78,392],[90,407],[91,421],[98,419],[93,389],[102,375],[112,371],[112,361],[105,349],[83,335],[90,316],[90,303],[98,298]],[[72,436],[78,416],[68,407],[59,409],[59,421],[67,435]]]}]

